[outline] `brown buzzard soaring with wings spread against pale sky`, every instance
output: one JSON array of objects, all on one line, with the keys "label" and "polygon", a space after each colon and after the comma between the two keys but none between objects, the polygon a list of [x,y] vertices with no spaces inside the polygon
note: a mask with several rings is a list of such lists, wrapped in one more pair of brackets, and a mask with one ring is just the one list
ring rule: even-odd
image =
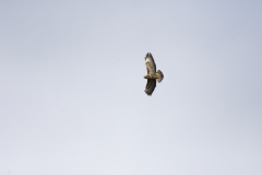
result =
[{"label": "brown buzzard soaring with wings spread against pale sky", "polygon": [[151,52],[147,52],[145,56],[145,67],[147,70],[147,74],[144,77],[144,79],[147,79],[145,93],[147,95],[152,95],[156,86],[156,81],[158,83],[162,82],[162,80],[164,79],[164,74],[160,70],[157,70],[156,72],[156,65]]}]

